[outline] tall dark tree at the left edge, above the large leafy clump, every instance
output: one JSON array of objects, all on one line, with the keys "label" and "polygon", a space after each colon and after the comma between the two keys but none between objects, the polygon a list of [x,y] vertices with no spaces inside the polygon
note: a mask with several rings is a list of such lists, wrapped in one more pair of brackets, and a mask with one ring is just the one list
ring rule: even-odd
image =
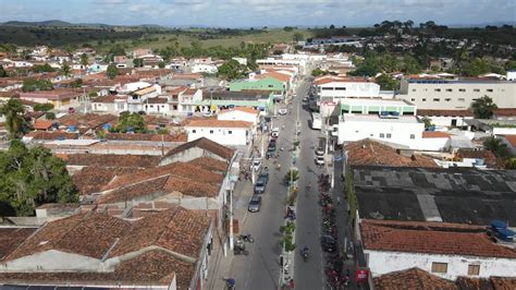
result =
[{"label": "tall dark tree at the left edge, above the large leafy clump", "polygon": [[9,138],[17,138],[28,132],[28,122],[25,120],[25,108],[17,98],[10,98],[8,102],[0,107],[0,116],[5,117],[5,129],[9,131]]}]

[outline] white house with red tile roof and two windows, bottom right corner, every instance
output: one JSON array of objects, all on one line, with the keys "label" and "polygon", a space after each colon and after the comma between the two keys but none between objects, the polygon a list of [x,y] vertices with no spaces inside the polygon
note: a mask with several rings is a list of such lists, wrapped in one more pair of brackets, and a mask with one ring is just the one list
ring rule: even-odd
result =
[{"label": "white house with red tile roof and two windows, bottom right corner", "polygon": [[493,241],[483,226],[363,219],[359,228],[373,277],[413,267],[451,280],[516,277],[514,242]]}]

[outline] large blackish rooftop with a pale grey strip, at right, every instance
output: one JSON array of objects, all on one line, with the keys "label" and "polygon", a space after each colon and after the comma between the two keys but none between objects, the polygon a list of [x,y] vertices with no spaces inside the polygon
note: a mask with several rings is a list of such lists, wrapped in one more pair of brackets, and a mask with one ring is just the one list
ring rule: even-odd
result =
[{"label": "large blackish rooftop with a pale grey strip, at right", "polygon": [[360,218],[516,223],[516,170],[353,166]]}]

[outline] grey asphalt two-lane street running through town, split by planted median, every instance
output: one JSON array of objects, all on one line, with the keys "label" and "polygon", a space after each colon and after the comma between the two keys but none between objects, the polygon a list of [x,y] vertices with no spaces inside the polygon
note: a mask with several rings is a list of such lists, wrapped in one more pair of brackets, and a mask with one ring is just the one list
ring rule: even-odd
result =
[{"label": "grey asphalt two-lane street running through town, split by planted median", "polygon": [[[317,194],[306,192],[306,184],[311,181],[315,185],[316,166],[314,164],[314,149],[310,144],[316,143],[319,131],[308,128],[310,114],[300,108],[300,100],[307,95],[309,83],[300,82],[297,97],[292,104],[292,110],[287,116],[273,120],[273,126],[282,128],[278,148],[281,171],[277,170],[272,160],[263,160],[269,166],[270,180],[266,193],[262,194],[262,205],[259,213],[248,213],[242,227],[243,233],[251,233],[255,238],[254,244],[247,244],[248,256],[235,256],[231,267],[231,275],[237,281],[238,289],[278,289],[279,283],[279,256],[281,254],[280,232],[285,213],[286,186],[282,182],[291,164],[292,141],[294,140],[295,119],[297,106],[299,106],[299,120],[302,125],[300,145],[302,152],[297,158],[296,166],[300,170],[297,203],[296,244],[298,247],[307,245],[310,249],[310,258],[304,262],[296,251],[295,282],[296,289],[322,289],[322,262],[319,246],[320,209],[317,205]],[[267,144],[266,144],[267,146]],[[318,171],[320,173],[320,170]],[[250,190],[250,186],[248,186]],[[314,186],[316,188],[316,186]]]}]

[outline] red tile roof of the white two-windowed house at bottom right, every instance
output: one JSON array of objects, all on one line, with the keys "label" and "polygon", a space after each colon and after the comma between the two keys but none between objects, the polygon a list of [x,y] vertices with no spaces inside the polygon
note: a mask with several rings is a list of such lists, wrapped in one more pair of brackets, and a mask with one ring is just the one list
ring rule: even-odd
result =
[{"label": "red tile roof of the white two-windowed house at bottom right", "polygon": [[493,242],[483,227],[364,219],[360,231],[365,250],[516,258],[516,250]]}]

